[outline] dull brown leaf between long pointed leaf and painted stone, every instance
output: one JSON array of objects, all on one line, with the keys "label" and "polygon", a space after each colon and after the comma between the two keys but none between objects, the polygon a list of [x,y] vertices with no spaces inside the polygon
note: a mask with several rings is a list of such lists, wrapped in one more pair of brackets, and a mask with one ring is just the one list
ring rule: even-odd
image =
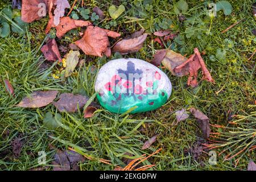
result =
[{"label": "dull brown leaf between long pointed leaf and painted stone", "polygon": [[60,112],[67,111],[68,113],[75,113],[77,106],[81,109],[88,99],[88,97],[79,94],[63,93],[60,95],[59,101],[53,102],[52,104],[57,107]]}]

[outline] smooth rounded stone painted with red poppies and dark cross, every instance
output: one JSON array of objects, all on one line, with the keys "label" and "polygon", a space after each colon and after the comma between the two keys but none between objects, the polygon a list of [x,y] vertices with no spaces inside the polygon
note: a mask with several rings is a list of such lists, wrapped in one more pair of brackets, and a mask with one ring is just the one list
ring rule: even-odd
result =
[{"label": "smooth rounded stone painted with red poppies and dark cross", "polygon": [[101,106],[113,113],[131,113],[157,109],[171,96],[172,85],[167,75],[140,59],[115,59],[98,72],[95,91]]}]

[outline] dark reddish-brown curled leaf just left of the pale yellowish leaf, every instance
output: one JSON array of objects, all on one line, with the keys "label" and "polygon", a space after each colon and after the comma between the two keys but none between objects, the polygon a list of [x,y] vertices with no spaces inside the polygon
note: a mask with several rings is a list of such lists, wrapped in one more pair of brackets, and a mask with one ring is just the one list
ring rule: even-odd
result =
[{"label": "dark reddish-brown curled leaf just left of the pale yellowish leaf", "polygon": [[46,45],[41,48],[44,57],[48,61],[61,61],[60,51],[55,39],[48,39]]}]

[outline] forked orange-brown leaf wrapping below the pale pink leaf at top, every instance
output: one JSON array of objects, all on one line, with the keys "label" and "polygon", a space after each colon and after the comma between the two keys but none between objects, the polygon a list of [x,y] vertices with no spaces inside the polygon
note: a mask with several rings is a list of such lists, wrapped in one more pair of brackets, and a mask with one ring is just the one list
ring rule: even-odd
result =
[{"label": "forked orange-brown leaf wrapping below the pale pink leaf at top", "polygon": [[46,33],[48,33],[52,27],[55,27],[56,28],[56,36],[58,38],[61,38],[69,30],[72,30],[77,27],[86,27],[86,26],[89,26],[92,24],[88,21],[71,19],[69,17],[62,17],[62,18],[60,18],[60,23],[57,26],[55,26],[55,24],[53,23],[54,16],[52,14],[52,7],[53,7],[53,0],[49,0],[49,10],[48,10],[49,22],[48,22],[46,30],[45,30]]}]

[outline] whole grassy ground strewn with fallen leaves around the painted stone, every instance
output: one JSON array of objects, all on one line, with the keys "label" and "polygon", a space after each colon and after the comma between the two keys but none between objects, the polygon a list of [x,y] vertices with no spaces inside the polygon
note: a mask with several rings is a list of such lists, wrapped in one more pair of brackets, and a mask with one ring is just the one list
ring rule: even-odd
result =
[{"label": "whole grassy ground strewn with fallen leaves around the painted stone", "polygon": [[[254,0],[68,2],[31,23],[0,2],[0,169],[256,170]],[[174,69],[173,51],[196,68]],[[167,103],[140,114],[100,107],[98,69],[120,57],[158,58]]]}]

